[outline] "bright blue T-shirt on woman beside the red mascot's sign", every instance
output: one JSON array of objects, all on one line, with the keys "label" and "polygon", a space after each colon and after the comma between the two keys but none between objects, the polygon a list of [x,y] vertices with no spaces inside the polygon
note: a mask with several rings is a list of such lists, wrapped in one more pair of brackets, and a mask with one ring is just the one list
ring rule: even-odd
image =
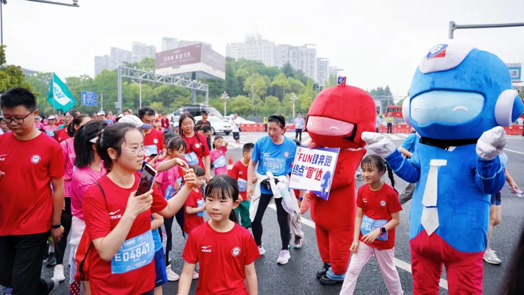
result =
[{"label": "bright blue T-shirt on woman beside the red mascot's sign", "polygon": [[[258,173],[265,175],[270,171],[274,176],[282,176],[291,173],[296,150],[297,144],[288,137],[284,136],[283,143],[276,145],[268,135],[257,140],[251,159],[258,162]],[[272,194],[263,187],[260,189],[264,194]]]}]

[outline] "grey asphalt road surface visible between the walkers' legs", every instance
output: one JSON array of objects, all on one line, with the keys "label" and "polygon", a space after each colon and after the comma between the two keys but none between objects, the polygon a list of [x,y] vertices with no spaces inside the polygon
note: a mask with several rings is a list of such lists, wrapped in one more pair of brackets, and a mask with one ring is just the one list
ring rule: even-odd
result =
[{"label": "grey asphalt road surface visible between the walkers' legs", "polygon": [[[265,133],[241,133],[241,143],[255,142]],[[293,133],[287,134],[294,137]],[[309,137],[307,134],[303,135],[303,141]],[[390,138],[399,146],[402,143],[405,135],[393,135]],[[237,161],[241,157],[241,148],[232,147],[234,140],[231,135],[225,136],[226,141],[230,142],[230,149],[227,156],[233,156]],[[517,181],[521,188],[524,188],[524,173],[519,167],[524,167],[524,137],[509,136],[508,144],[506,146],[506,154],[509,157],[507,169]],[[396,188],[401,191],[406,182],[395,177]],[[357,186],[362,185],[361,181],[357,181]],[[503,261],[501,265],[490,265],[484,263],[484,294],[495,295],[498,294],[499,285],[503,280],[506,267],[511,261],[511,254],[516,247],[520,233],[523,228],[523,214],[524,199],[510,194],[507,190],[502,192],[503,214],[502,222],[495,226],[493,230],[492,249],[496,250],[498,257]],[[412,294],[412,277],[408,271],[410,269],[411,255],[409,251],[409,206],[410,202],[403,205],[401,212],[401,223],[397,227],[395,257],[397,260],[397,270],[402,283],[402,288],[405,294]],[[270,205],[271,208],[271,205]],[[256,260],[255,266],[258,277],[259,293],[266,294],[294,294],[294,295],[310,295],[310,294],[339,294],[341,285],[325,287],[322,286],[315,277],[315,272],[321,267],[321,259],[316,245],[314,224],[311,222],[311,216],[308,213],[302,217],[304,231],[304,246],[301,249],[291,250],[291,260],[286,265],[277,265],[276,260],[280,250],[279,228],[277,225],[277,216],[274,209],[268,209],[264,216],[264,234],[263,243],[266,249],[266,254],[260,259]],[[309,222],[308,222],[309,221]],[[183,261],[180,258],[184,246],[184,239],[181,236],[180,228],[173,226],[173,251],[171,251],[171,259],[173,269],[180,273],[183,266]],[[69,248],[65,253],[65,257],[69,257]],[[65,266],[65,274],[68,274],[68,267]],[[42,267],[42,277],[52,277],[52,268]],[[445,271],[442,274],[445,280]],[[446,286],[445,281],[441,282],[441,286]],[[196,287],[196,280],[193,280],[192,291],[194,293]],[[163,286],[165,294],[176,294],[178,288],[177,282],[169,282]],[[60,284],[57,294],[67,294],[67,282]],[[374,259],[370,259],[369,263],[362,270],[358,278],[356,294],[388,294],[384,281],[380,275],[378,264]],[[440,294],[447,294],[446,288],[440,288]]]}]

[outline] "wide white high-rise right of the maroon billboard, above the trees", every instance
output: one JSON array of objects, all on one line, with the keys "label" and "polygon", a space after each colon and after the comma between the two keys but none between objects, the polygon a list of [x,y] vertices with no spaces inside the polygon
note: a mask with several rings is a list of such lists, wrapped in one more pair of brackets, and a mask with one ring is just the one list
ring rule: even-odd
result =
[{"label": "wide white high-rise right of the maroon billboard, above the trees", "polygon": [[226,57],[257,60],[267,67],[277,65],[275,43],[262,39],[260,34],[247,34],[245,42],[228,43]]}]

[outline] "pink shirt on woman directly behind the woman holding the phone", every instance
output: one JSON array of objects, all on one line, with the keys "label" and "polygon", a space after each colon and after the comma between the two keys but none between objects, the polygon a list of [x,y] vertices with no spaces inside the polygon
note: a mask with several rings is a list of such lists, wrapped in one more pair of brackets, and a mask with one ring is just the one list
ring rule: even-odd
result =
[{"label": "pink shirt on woman directly behind the woman holding the phone", "polygon": [[73,179],[71,180],[71,214],[84,220],[84,211],[82,209],[82,202],[84,201],[84,194],[92,185],[105,175],[105,168],[100,163],[102,171],[95,171],[91,167],[76,168],[73,172]]}]

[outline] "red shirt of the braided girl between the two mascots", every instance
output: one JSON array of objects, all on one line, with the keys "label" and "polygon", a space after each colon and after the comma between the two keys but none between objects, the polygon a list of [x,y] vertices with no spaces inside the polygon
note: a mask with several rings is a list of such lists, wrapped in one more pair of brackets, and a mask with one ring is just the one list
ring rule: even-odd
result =
[{"label": "red shirt of the braided girl between the two mascots", "polygon": [[[368,184],[362,185],[362,187],[358,189],[357,206],[362,208],[362,213],[365,216],[373,218],[374,220],[386,220],[387,222],[391,220],[391,213],[396,213],[402,210],[402,207],[398,202],[398,193],[386,183],[384,183],[383,187],[376,192],[370,190]],[[363,216],[363,218],[365,217]],[[388,231],[387,235],[387,241],[376,239],[375,242],[367,243],[367,245],[381,250],[395,247],[395,228]],[[363,241],[362,237],[361,226],[361,241]]]}]

